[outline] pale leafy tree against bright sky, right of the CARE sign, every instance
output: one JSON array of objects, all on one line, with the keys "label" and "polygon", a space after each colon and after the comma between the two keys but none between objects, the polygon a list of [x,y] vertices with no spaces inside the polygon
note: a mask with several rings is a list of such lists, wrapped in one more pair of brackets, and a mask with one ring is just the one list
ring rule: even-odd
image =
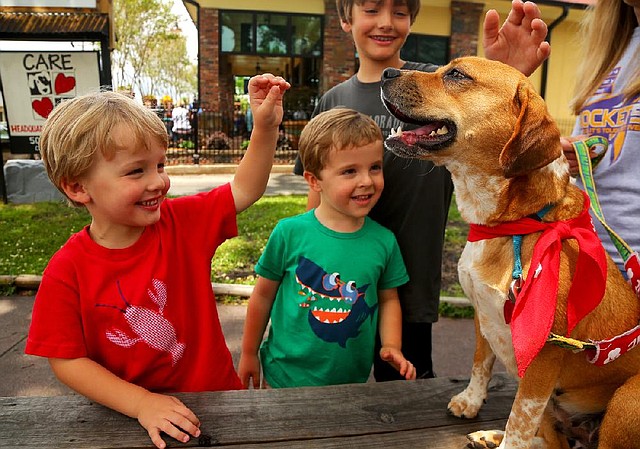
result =
[{"label": "pale leafy tree against bright sky, right of the CARE sign", "polygon": [[114,0],[113,11],[116,87],[131,85],[143,96],[196,91],[197,70],[166,0]]}]

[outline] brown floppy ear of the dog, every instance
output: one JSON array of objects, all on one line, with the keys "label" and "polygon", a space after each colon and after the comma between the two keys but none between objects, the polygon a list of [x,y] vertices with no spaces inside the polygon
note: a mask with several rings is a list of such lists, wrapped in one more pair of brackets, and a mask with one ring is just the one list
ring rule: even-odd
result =
[{"label": "brown floppy ear of the dog", "polygon": [[562,154],[560,131],[544,100],[528,81],[521,81],[518,85],[513,107],[518,120],[499,158],[507,178],[544,167]]}]

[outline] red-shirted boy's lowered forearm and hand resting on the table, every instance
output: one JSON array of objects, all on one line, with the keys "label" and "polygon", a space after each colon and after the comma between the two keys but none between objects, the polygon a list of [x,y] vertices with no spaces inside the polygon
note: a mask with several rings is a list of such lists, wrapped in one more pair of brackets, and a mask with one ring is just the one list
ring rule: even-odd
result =
[{"label": "red-shirted boy's lowered forearm and hand resting on the table", "polygon": [[160,433],[186,443],[200,436],[200,421],[179,399],[152,393],[120,379],[93,360],[50,358],[56,377],[83,396],[138,420],[156,447],[167,447]]}]

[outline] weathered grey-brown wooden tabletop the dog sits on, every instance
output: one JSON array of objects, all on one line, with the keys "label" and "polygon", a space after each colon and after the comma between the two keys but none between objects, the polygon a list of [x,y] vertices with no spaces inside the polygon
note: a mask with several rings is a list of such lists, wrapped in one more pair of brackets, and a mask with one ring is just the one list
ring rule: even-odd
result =
[{"label": "weathered grey-brown wooden tabletop the dog sits on", "polygon": [[[477,418],[447,414],[467,379],[176,394],[202,436],[169,447],[462,449],[466,434],[503,429],[516,382],[496,374]],[[2,448],[147,448],[134,419],[78,395],[0,398]]]}]

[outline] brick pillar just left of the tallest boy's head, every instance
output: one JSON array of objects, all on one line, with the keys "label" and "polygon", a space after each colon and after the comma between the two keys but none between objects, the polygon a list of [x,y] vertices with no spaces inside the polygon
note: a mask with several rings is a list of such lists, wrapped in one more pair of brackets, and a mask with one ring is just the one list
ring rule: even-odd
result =
[{"label": "brick pillar just left of the tallest boy's head", "polygon": [[342,31],[335,0],[324,0],[324,55],[320,94],[355,73],[355,46],[351,34]]}]

